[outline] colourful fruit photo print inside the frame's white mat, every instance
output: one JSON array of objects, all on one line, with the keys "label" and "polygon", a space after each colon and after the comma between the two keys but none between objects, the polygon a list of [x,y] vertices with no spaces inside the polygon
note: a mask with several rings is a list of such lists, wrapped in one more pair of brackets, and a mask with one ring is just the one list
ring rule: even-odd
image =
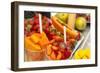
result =
[{"label": "colourful fruit photo print inside the frame's white mat", "polygon": [[83,44],[85,47],[80,49],[82,42],[90,43],[89,37],[84,38],[90,29],[89,14],[33,12],[26,18],[27,15],[24,19],[25,61],[90,58],[90,46]]}]

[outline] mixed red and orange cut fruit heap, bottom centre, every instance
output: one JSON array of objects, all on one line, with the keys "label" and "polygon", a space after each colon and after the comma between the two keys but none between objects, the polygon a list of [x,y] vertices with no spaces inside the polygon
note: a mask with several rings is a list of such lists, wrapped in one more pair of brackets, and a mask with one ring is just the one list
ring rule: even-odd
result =
[{"label": "mixed red and orange cut fruit heap, bottom centre", "polygon": [[71,55],[69,47],[61,40],[53,40],[51,44],[47,46],[47,57],[50,60],[64,60],[68,59]]}]

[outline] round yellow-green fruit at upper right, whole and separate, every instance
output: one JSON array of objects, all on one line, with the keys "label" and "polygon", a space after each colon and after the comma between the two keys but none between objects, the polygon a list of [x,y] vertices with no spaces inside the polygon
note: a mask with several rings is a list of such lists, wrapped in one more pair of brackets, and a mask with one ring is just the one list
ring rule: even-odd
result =
[{"label": "round yellow-green fruit at upper right, whole and separate", "polygon": [[78,30],[85,30],[87,24],[84,17],[78,17],[75,22],[75,28]]}]

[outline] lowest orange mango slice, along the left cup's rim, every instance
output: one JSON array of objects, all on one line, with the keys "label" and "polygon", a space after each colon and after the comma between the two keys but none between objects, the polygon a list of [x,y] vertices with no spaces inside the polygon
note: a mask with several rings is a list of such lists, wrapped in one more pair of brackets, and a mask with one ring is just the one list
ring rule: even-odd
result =
[{"label": "lowest orange mango slice, along the left cup's rim", "polygon": [[25,48],[32,50],[32,51],[38,51],[41,50],[41,47],[35,43],[33,43],[30,38],[25,37]]}]

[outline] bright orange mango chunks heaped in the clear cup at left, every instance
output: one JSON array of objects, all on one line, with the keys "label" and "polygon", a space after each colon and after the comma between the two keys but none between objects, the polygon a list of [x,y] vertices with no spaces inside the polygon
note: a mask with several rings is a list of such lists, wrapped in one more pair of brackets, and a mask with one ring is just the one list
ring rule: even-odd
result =
[{"label": "bright orange mango chunks heaped in the clear cup at left", "polygon": [[49,40],[44,32],[25,37],[25,48],[30,50],[40,51],[47,43],[49,43]]}]

